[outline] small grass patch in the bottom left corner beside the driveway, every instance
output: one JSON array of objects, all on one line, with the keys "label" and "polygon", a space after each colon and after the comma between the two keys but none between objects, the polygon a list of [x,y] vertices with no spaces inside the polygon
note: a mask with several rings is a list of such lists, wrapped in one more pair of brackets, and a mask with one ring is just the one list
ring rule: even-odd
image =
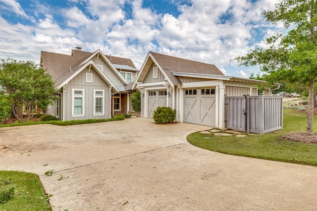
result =
[{"label": "small grass patch in the bottom left corner beside the driveway", "polygon": [[0,211],[51,211],[36,174],[0,171]]}]

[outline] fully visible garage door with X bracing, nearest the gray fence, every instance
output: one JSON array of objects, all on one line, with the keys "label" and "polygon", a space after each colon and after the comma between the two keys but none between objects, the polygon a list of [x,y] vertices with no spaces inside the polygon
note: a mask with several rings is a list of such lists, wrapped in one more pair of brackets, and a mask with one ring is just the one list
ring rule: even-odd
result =
[{"label": "fully visible garage door with X bracing, nearest the gray fence", "polygon": [[186,89],[184,122],[215,126],[215,89]]}]

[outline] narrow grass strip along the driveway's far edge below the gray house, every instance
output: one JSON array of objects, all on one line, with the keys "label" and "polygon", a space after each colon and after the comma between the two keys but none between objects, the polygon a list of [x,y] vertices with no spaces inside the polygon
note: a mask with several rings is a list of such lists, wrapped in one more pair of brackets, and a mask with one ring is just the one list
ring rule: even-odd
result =
[{"label": "narrow grass strip along the driveway's far edge below the gray house", "polygon": [[123,120],[124,116],[115,116],[111,119],[84,119],[84,120],[70,120],[70,121],[27,121],[23,123],[12,123],[12,124],[0,124],[1,127],[15,127],[15,126],[24,126],[24,125],[36,125],[36,124],[53,124],[59,126],[69,126],[76,124],[89,124],[89,123],[98,123],[98,122],[109,122]]}]

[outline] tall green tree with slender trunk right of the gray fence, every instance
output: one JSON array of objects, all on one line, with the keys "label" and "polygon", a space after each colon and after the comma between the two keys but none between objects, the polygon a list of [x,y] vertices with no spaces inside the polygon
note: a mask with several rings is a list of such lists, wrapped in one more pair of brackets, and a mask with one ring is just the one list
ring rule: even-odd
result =
[{"label": "tall green tree with slender trunk right of the gray fence", "polygon": [[259,65],[270,83],[301,82],[309,87],[307,133],[313,134],[314,83],[317,81],[317,0],[282,0],[275,10],[263,12],[266,21],[283,22],[286,34],[266,39],[258,48],[234,58],[241,65]]}]

